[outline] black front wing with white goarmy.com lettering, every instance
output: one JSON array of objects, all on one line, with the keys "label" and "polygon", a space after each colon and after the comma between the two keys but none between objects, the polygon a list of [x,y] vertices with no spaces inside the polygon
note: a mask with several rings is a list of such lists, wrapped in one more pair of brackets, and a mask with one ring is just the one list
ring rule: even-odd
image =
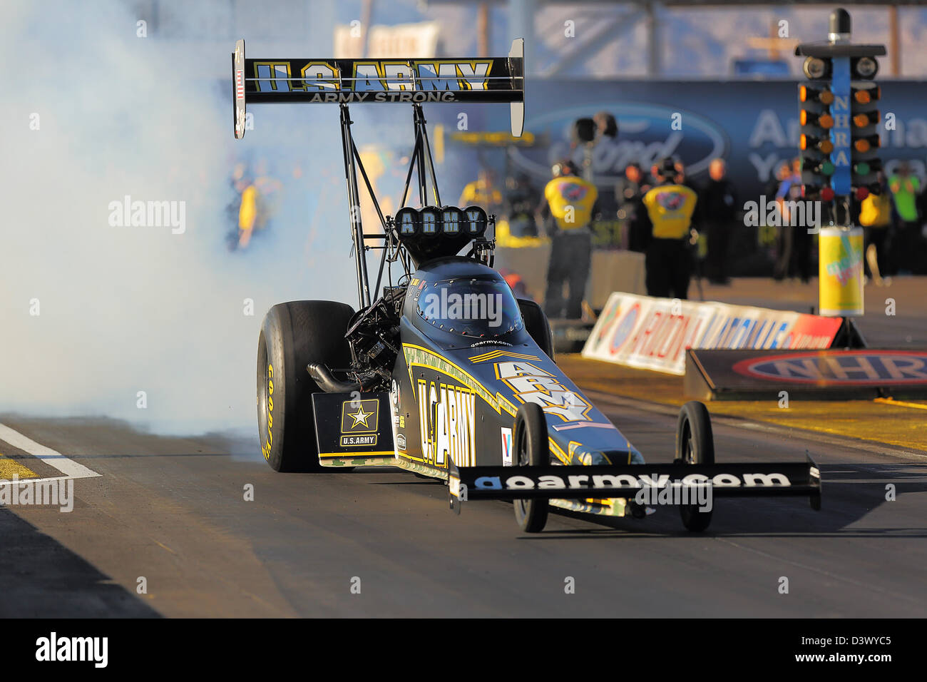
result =
[{"label": "black front wing with white goarmy.com lettering", "polygon": [[451,509],[482,499],[633,499],[642,488],[711,486],[718,497],[807,496],[820,508],[820,470],[806,462],[630,464],[622,466],[456,467],[448,487]]}]

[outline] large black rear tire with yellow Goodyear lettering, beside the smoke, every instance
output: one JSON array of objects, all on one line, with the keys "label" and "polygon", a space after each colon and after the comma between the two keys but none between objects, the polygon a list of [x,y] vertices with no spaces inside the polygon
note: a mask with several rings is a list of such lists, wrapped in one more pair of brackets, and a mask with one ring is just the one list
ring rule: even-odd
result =
[{"label": "large black rear tire with yellow Goodyear lettering, beside the smoke", "polygon": [[264,315],[258,340],[258,432],[275,471],[319,471],[312,362],[348,367],[345,340],[353,309],[333,301],[277,303]]}]

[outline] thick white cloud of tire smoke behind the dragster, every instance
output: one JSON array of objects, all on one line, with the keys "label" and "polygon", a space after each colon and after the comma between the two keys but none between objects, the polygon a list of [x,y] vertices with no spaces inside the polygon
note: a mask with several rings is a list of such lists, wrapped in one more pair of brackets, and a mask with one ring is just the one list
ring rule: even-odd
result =
[{"label": "thick white cloud of tire smoke behind the dragster", "polygon": [[[0,412],[256,429],[264,312],[356,305],[337,109],[257,108],[236,143],[226,36],[215,49],[140,38],[139,17],[114,2],[23,0],[3,13]],[[286,181],[282,210],[230,252],[229,174],[261,157]],[[184,233],[109,225],[126,195],[184,201]]]}]

